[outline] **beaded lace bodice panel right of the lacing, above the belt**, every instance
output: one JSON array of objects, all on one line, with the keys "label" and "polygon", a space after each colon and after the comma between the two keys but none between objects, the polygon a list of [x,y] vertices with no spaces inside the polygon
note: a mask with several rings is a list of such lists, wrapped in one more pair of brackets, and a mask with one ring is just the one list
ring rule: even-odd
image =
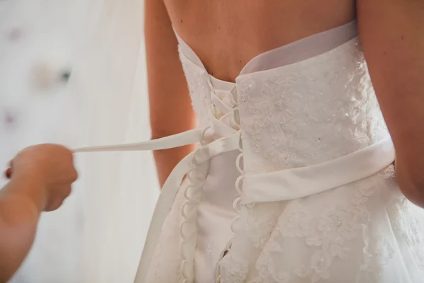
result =
[{"label": "beaded lace bodice panel right of the lacing, above the belt", "polygon": [[237,79],[247,173],[322,163],[387,135],[357,43]]}]

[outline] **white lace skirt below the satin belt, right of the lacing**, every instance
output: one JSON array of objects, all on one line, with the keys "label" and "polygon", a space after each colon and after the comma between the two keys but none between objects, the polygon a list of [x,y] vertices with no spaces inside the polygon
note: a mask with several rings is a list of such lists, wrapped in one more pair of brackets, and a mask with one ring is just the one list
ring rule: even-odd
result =
[{"label": "white lace skirt below the satin belt, right of the lacing", "polygon": [[422,230],[393,179],[243,207],[220,282],[422,282]]}]

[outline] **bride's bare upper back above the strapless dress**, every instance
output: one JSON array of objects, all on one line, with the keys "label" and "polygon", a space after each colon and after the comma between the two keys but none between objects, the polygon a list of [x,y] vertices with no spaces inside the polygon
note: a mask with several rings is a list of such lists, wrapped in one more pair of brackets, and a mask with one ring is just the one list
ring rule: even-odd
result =
[{"label": "bride's bare upper back above the strapless dress", "polygon": [[257,54],[355,17],[354,0],[165,0],[165,6],[176,32],[225,81]]}]

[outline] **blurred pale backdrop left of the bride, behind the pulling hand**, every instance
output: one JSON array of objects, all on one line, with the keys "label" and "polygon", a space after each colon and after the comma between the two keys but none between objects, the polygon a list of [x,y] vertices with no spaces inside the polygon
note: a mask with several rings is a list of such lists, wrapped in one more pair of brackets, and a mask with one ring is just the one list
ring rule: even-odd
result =
[{"label": "blurred pale backdrop left of the bride, behind the pulling hand", "polygon": [[[45,142],[150,138],[142,0],[0,0],[0,163]],[[159,188],[150,152],[78,154],[12,282],[132,282]],[[6,183],[0,177],[1,187]]]}]

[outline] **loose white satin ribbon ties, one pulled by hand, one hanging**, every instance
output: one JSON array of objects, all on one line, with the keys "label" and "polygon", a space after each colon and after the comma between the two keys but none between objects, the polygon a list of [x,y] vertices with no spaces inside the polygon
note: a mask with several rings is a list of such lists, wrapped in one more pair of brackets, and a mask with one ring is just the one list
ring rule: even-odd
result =
[{"label": "loose white satin ribbon ties, one pulled by hand, one hanging", "polygon": [[[225,127],[217,126],[217,129],[225,130]],[[190,130],[181,134],[175,134],[170,137],[162,139],[154,139],[136,144],[117,144],[113,146],[94,146],[75,149],[74,152],[95,152],[95,151],[141,151],[141,150],[158,150],[170,149],[172,147],[184,146],[187,144],[194,144],[203,138],[204,131],[201,129]],[[162,192],[160,193],[158,202],[153,212],[151,224],[148,230],[146,243],[144,244],[143,253],[139,263],[139,270],[137,271],[136,279],[134,282],[142,283],[146,279],[148,267],[151,265],[155,248],[158,245],[160,233],[163,224],[170,212],[172,202],[177,195],[177,191],[182,183],[184,175],[192,171],[192,169],[199,166],[201,163],[208,161],[214,156],[223,154],[228,151],[240,149],[240,132],[230,132],[228,137],[222,137],[209,144],[200,146],[199,149],[193,151],[180,161],[174,170],[168,176],[165,184],[163,185]]]}]

